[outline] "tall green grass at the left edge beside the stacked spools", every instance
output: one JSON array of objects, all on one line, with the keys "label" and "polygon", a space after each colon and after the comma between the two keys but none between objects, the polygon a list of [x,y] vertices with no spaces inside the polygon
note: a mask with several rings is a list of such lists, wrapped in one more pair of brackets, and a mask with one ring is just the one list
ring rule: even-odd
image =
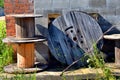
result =
[{"label": "tall green grass at the left edge beside the stacked spools", "polygon": [[3,39],[6,37],[6,23],[4,20],[0,20],[0,72],[3,71],[3,67],[12,62],[12,47],[3,43]]}]

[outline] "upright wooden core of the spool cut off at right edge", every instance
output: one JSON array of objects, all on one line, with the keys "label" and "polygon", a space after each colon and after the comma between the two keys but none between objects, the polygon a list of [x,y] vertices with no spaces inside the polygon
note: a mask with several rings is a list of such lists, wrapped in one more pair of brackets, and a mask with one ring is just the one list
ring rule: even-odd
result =
[{"label": "upright wooden core of the spool cut off at right edge", "polygon": [[120,66],[120,40],[115,41],[115,64]]}]

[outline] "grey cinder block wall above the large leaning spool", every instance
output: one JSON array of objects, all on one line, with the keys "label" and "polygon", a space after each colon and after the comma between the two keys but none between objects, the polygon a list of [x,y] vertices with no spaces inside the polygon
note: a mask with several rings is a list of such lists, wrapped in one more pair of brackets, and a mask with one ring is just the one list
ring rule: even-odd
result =
[{"label": "grey cinder block wall above the large leaning spool", "polygon": [[[61,13],[62,10],[80,10],[100,13],[112,24],[120,22],[119,0],[34,0],[34,13],[43,14],[47,23],[48,13]],[[38,19],[39,23],[43,22]],[[42,23],[43,24],[43,23]],[[47,25],[44,25],[47,27]]]}]

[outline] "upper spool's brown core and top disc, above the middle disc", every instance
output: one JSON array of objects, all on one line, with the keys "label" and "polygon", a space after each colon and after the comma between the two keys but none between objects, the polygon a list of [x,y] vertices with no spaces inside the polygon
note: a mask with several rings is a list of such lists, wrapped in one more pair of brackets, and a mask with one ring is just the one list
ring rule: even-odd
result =
[{"label": "upper spool's brown core and top disc, above the middle disc", "polygon": [[16,20],[16,37],[17,38],[31,38],[35,36],[35,18],[42,17],[42,15],[35,14],[13,14]]}]

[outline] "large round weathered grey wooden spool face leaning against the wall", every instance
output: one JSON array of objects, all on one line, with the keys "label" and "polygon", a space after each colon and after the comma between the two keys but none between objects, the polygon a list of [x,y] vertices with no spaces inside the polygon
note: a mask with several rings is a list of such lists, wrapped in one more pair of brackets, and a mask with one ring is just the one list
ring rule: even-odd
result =
[{"label": "large round weathered grey wooden spool face leaning against the wall", "polygon": [[[68,65],[82,58],[103,35],[99,24],[92,17],[78,11],[64,12],[53,21],[48,31],[52,54],[58,61]],[[102,43],[101,40],[99,46]]]}]

